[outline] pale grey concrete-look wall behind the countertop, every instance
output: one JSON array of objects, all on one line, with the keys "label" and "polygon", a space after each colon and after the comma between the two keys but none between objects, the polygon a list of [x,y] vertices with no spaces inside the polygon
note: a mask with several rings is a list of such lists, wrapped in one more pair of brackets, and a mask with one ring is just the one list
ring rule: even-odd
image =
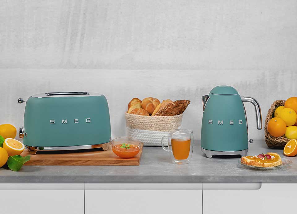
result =
[{"label": "pale grey concrete-look wall behind the countertop", "polygon": [[[296,94],[297,1],[3,1],[0,124],[23,125],[18,97],[47,91],[104,94],[112,136],[125,135],[132,97],[189,99],[183,128],[200,138],[201,96],[216,85],[254,96],[263,122]],[[249,138],[256,130],[246,104]]]}]

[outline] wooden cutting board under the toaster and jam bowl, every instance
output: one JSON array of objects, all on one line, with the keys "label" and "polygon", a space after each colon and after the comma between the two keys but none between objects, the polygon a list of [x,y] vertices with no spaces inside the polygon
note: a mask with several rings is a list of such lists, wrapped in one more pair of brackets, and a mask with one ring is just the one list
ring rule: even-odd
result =
[{"label": "wooden cutting board under the toaster and jam bowl", "polygon": [[31,156],[30,160],[24,164],[27,166],[138,166],[142,151],[143,147],[135,157],[126,159],[115,155],[111,150],[111,145],[106,151],[88,149],[88,151],[47,151],[30,154],[28,149],[25,149],[21,155]]}]

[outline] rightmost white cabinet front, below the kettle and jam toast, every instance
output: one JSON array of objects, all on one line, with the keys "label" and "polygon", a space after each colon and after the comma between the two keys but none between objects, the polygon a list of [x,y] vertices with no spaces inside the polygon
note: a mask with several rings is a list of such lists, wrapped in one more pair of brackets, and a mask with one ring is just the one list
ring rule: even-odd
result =
[{"label": "rightmost white cabinet front, below the kettle and jam toast", "polygon": [[203,183],[204,214],[291,213],[294,211],[292,207],[297,201],[297,183],[226,184]]}]

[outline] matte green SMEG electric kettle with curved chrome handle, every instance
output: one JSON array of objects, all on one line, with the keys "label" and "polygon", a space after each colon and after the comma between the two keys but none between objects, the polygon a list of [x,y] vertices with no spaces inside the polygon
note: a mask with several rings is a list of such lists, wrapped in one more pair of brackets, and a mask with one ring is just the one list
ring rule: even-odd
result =
[{"label": "matte green SMEG electric kettle with curved chrome handle", "polygon": [[206,157],[213,155],[241,155],[248,152],[248,124],[243,102],[250,102],[256,109],[257,129],[262,129],[260,105],[252,97],[240,96],[231,86],[214,87],[202,97],[203,118],[201,151]]}]

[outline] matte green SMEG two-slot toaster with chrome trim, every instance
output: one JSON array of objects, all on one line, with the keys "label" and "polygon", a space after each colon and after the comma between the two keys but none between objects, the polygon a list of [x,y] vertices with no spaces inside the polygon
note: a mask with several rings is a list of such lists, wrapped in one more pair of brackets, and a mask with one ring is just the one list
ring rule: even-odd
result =
[{"label": "matte green SMEG two-slot toaster with chrome trim", "polygon": [[110,115],[102,94],[49,92],[18,102],[26,102],[19,136],[31,154],[38,150],[107,150],[110,145]]}]

